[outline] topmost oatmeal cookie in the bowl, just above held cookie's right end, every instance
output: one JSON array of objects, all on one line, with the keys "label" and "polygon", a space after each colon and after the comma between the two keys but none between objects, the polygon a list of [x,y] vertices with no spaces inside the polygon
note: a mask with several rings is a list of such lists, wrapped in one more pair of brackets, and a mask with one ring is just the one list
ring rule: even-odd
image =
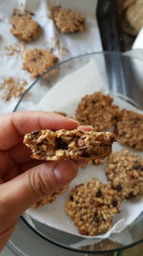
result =
[{"label": "topmost oatmeal cookie in the bowl, just above held cookie's right end", "polygon": [[80,125],[92,126],[96,131],[110,128],[118,114],[118,106],[112,105],[112,97],[95,92],[86,95],[76,109],[76,119]]}]

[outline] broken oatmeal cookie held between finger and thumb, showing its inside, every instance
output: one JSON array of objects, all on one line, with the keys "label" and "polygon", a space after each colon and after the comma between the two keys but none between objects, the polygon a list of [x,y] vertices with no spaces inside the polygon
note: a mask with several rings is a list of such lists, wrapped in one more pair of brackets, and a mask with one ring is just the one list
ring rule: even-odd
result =
[{"label": "broken oatmeal cookie held between finger and thumb, showing its inside", "polygon": [[39,160],[96,159],[112,151],[111,132],[50,129],[35,130],[24,137],[31,157]]}]

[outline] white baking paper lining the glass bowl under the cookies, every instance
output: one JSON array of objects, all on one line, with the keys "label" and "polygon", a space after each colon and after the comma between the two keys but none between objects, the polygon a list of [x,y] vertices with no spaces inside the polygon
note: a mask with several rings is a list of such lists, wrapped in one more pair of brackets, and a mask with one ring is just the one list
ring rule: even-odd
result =
[{"label": "white baking paper lining the glass bowl under the cookies", "polygon": [[[96,63],[94,62],[94,59],[92,59],[85,66],[74,71],[65,79],[57,82],[41,100],[39,105],[34,105],[34,108],[48,111],[65,111],[69,115],[74,116],[76,106],[81,100],[81,97],[99,90],[107,93],[106,86],[99,75]],[[120,98],[113,95],[112,97],[114,99],[114,104],[119,105],[121,108],[127,108],[137,112],[139,111],[136,107],[126,103]],[[120,151],[124,148],[125,147],[122,147],[118,143],[113,143],[112,151]],[[69,198],[72,188],[74,188],[75,185],[89,181],[92,177],[97,177],[102,182],[107,183],[105,175],[106,164],[105,161],[101,166],[90,165],[84,170],[79,170],[77,177],[71,182],[68,192],[57,197],[57,199],[49,205],[44,205],[37,209],[31,207],[31,209],[26,212],[27,217],[29,216],[31,221],[34,219],[58,230],[85,237],[78,234],[76,227],[65,214],[65,202],[67,198]],[[112,229],[106,234],[95,236],[95,238],[105,239],[112,234],[121,232],[141,214],[142,210],[143,198],[140,197],[128,201],[124,200],[120,207],[120,213],[113,218],[114,225],[112,226]],[[95,241],[97,242],[97,240],[93,240],[94,237],[91,238],[92,240],[90,240],[90,244],[95,243]],[[85,240],[86,244],[88,239]],[[84,242],[81,242],[81,244],[83,243]]]}]

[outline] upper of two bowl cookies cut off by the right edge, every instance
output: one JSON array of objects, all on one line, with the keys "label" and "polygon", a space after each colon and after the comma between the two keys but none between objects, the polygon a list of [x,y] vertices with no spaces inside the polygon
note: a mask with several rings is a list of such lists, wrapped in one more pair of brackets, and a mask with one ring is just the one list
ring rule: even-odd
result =
[{"label": "upper of two bowl cookies cut off by the right edge", "polygon": [[143,115],[123,109],[115,124],[115,138],[125,146],[143,151]]}]

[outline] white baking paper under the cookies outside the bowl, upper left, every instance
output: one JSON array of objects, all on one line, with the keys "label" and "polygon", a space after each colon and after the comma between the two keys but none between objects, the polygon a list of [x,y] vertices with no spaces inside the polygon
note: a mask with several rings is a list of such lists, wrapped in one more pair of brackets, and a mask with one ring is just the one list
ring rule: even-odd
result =
[{"label": "white baking paper under the cookies outside the bowl, upper left", "polygon": [[[8,77],[25,79],[27,88],[34,81],[30,73],[22,69],[22,55],[25,50],[32,48],[52,49],[60,61],[77,55],[102,50],[100,35],[95,17],[97,0],[1,0],[0,1],[0,78],[3,81]],[[63,8],[71,8],[86,16],[87,31],[76,35],[62,35],[54,26],[50,18],[51,5],[61,5]],[[10,16],[13,9],[29,10],[34,12],[34,19],[42,27],[42,35],[34,42],[23,44],[10,34]],[[8,56],[11,51],[6,47],[18,50],[17,55]],[[42,88],[41,88],[42,90]],[[0,91],[0,114],[6,114],[13,110],[18,99],[4,102],[3,91]]]}]

